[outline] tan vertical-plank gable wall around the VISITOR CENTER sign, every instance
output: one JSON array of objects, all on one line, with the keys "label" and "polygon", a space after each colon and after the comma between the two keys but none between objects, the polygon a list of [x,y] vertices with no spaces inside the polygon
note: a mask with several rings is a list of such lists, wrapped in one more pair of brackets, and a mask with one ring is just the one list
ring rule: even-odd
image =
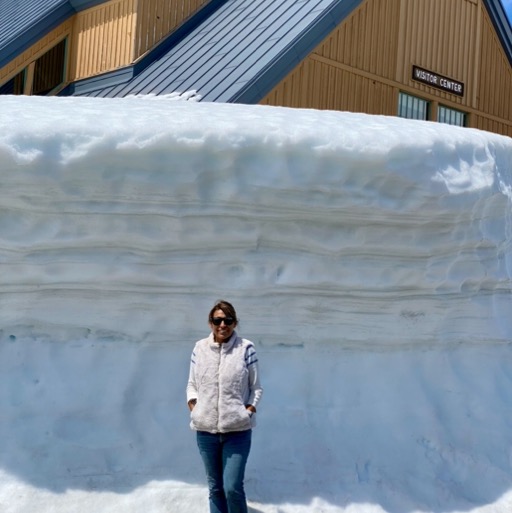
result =
[{"label": "tan vertical-plank gable wall around the VISITOR CENTER sign", "polygon": [[[413,64],[464,97],[415,82]],[[260,103],[396,115],[400,91],[512,136],[512,68],[482,0],[367,0]]]}]

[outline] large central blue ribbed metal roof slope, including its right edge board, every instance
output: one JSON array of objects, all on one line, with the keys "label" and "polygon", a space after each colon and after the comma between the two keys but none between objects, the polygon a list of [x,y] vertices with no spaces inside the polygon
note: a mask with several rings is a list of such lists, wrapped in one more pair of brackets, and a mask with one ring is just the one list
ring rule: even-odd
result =
[{"label": "large central blue ribbed metal roof slope, including its right edge board", "polygon": [[[256,103],[363,0],[227,0],[135,76],[74,85],[75,96],[164,95]],[[127,80],[128,79],[128,80]],[[117,83],[116,83],[117,82]]]}]

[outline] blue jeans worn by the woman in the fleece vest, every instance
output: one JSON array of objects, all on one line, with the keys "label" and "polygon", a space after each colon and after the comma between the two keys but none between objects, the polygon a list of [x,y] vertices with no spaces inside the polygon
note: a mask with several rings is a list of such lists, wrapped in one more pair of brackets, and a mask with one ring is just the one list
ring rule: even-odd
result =
[{"label": "blue jeans worn by the woman in the fleece vest", "polygon": [[210,513],[247,513],[244,474],[251,433],[197,432],[197,446],[208,480]]}]

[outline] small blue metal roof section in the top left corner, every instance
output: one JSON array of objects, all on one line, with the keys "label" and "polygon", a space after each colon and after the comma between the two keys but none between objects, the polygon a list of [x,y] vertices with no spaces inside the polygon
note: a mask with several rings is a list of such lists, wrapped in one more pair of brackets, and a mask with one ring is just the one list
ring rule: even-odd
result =
[{"label": "small blue metal roof section in the top left corner", "polygon": [[73,16],[106,0],[0,0],[0,68]]}]

